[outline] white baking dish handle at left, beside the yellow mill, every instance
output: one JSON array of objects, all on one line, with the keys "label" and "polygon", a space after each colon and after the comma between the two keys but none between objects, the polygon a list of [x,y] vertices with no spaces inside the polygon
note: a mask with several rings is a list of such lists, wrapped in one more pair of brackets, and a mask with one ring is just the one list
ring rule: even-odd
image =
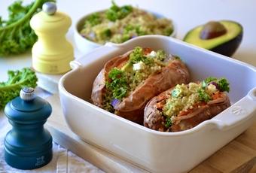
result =
[{"label": "white baking dish handle at left, beside the yellow mill", "polygon": [[104,46],[98,47],[94,51],[91,51],[90,53],[87,53],[86,55],[81,56],[80,58],[75,59],[74,61],[71,61],[69,65],[72,69],[75,69],[83,65],[87,65],[90,62],[95,61],[97,59],[102,59],[102,56],[108,55],[111,52],[114,52],[118,49],[119,48],[117,44],[106,43]]}]

